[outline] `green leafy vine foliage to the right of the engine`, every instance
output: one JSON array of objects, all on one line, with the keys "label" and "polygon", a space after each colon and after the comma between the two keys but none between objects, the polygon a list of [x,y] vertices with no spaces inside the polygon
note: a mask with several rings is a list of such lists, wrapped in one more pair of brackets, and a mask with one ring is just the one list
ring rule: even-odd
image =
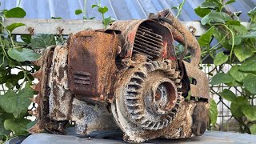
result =
[{"label": "green leafy vine foliage to the right of the engine", "polygon": [[[202,54],[209,54],[218,70],[210,84],[224,84],[242,90],[238,95],[228,89],[218,94],[231,102],[231,113],[240,122],[241,131],[255,134],[256,110],[254,103],[249,100],[256,94],[256,8],[248,12],[251,20],[249,28],[246,28],[242,26],[237,13],[223,9],[234,2],[236,1],[206,0],[195,9],[196,14],[202,17],[202,25],[210,27],[198,42],[202,47]],[[218,41],[217,45],[210,45],[212,38]],[[225,52],[219,52],[223,50]],[[231,66],[226,74],[222,70],[223,64]]]}]

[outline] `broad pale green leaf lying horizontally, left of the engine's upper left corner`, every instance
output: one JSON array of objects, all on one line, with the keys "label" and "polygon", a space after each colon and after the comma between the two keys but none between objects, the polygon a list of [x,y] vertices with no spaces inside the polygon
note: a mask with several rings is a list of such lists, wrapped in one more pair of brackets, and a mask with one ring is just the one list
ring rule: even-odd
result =
[{"label": "broad pale green leaf lying horizontally, left of the engine's upper left corner", "polygon": [[9,54],[10,58],[18,62],[25,62],[25,61],[36,61],[40,58],[40,54],[34,52],[34,50],[26,49],[26,48],[10,48],[7,53]]}]

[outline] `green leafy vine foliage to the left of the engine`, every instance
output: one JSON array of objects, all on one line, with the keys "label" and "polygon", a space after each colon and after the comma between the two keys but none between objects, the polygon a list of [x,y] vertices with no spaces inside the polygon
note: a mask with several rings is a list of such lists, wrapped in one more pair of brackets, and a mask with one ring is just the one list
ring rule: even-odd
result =
[{"label": "green leafy vine foliage to the left of the engine", "polygon": [[[11,10],[1,10],[1,18],[24,18],[26,12],[15,7]],[[34,90],[30,88],[34,77],[31,73],[38,70],[30,61],[36,61],[41,56],[34,49],[45,49],[47,46],[63,44],[66,40],[62,35],[34,34],[21,35],[23,42],[17,42],[16,36],[11,33],[23,23],[14,22],[4,26],[2,22],[0,34],[0,86],[6,86],[3,94],[0,94],[0,141],[6,141],[13,135],[26,134],[27,129],[34,125],[34,122],[26,119],[30,116],[28,106],[30,98],[34,97]],[[30,67],[26,70],[24,66]],[[19,70],[14,74],[14,69]]]}]

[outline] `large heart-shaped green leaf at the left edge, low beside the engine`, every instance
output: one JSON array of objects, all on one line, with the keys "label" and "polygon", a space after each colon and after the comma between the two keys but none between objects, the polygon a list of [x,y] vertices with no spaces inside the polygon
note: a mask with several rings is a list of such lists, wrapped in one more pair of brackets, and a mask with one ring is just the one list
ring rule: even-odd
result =
[{"label": "large heart-shaped green leaf at the left edge, low beside the engine", "polygon": [[14,90],[8,90],[6,94],[0,97],[0,106],[7,113],[14,114],[15,118],[22,117],[30,106],[30,99],[33,98],[34,91],[27,83],[25,88],[20,90],[18,94]]}]

